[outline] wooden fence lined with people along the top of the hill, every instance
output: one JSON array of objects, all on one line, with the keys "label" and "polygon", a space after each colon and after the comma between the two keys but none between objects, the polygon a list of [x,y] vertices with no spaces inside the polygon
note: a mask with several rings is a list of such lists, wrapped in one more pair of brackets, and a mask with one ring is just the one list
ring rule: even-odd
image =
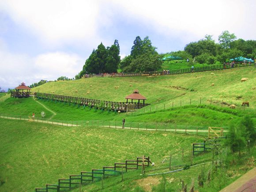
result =
[{"label": "wooden fence lined with people along the top of the hill", "polygon": [[217,71],[231,68],[240,68],[246,66],[253,66],[255,64],[236,62],[235,64],[218,64],[218,65],[207,65],[203,67],[194,68],[193,71],[191,68],[176,69],[168,72],[156,71],[156,72],[130,72],[130,73],[114,73],[114,74],[91,74],[85,75],[85,78],[88,77],[132,77],[132,76],[156,76],[156,75],[176,75],[183,73],[192,73],[192,72],[206,72],[206,71]]}]

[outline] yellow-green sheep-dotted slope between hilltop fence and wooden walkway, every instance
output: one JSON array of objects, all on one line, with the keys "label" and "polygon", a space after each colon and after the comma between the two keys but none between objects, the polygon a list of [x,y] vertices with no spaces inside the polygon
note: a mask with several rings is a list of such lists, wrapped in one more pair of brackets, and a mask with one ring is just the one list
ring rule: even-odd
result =
[{"label": "yellow-green sheep-dotted slope between hilltop fence and wooden walkway", "polygon": [[[170,106],[180,104],[180,100],[189,103],[209,103],[206,99],[213,98],[215,101],[226,101],[240,104],[241,100],[248,100],[255,108],[255,68],[239,68],[214,72],[199,72],[193,74],[165,75],[152,77],[127,77],[127,78],[88,78],[74,81],[50,82],[32,89],[36,92],[63,94],[100,100],[125,102],[125,96],[138,89],[152,105],[166,103]],[[241,83],[243,77],[249,78],[247,82]],[[211,84],[215,86],[211,87]],[[132,84],[133,87],[129,87]],[[92,87],[90,87],[90,85]],[[114,87],[119,86],[119,89]],[[172,87],[171,87],[172,86]],[[181,87],[177,89],[176,87]],[[195,91],[191,91],[194,89]],[[76,93],[75,90],[78,90]],[[90,94],[87,94],[90,92]],[[237,96],[242,99],[237,101]],[[152,106],[151,105],[151,106]]]}]

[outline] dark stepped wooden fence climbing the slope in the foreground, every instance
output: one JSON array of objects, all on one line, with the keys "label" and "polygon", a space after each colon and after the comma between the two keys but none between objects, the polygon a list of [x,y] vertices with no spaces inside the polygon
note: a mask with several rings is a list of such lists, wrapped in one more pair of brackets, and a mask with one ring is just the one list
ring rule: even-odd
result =
[{"label": "dark stepped wooden fence climbing the slope in the foreground", "polygon": [[[90,184],[93,181],[99,181],[106,176],[113,176],[128,171],[128,169],[139,169],[139,166],[149,166],[150,157],[137,157],[136,160],[126,160],[125,163],[115,163],[114,166],[103,166],[103,169],[92,169],[91,172],[81,171],[79,175],[69,175],[68,179],[59,179],[58,184],[46,184],[45,188],[35,188],[36,192],[48,192],[49,189],[57,192],[62,189],[71,189],[78,184]],[[130,166],[133,167],[130,167]],[[122,171],[119,169],[121,168]]]}]

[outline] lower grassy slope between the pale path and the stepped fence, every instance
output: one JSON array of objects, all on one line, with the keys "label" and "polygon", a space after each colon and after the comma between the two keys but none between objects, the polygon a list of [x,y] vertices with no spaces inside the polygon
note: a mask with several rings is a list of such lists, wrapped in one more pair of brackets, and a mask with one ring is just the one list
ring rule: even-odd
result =
[{"label": "lower grassy slope between the pale path and the stepped fence", "polygon": [[[158,165],[169,154],[181,162],[200,136],[133,130],[61,127],[0,119],[0,191],[32,191],[58,178],[113,166],[142,154]],[[189,161],[189,158],[185,156]],[[22,176],[22,177],[17,177]]]}]

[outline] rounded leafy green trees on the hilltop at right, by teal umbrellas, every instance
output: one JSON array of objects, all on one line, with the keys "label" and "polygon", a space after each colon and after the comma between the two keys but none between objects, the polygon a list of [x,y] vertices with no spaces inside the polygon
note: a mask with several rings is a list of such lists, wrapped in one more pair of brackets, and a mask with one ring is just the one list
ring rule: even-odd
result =
[{"label": "rounded leafy green trees on the hilltop at right, by teal umbrellas", "polygon": [[167,53],[166,55],[179,56],[188,59],[191,64],[195,61],[200,64],[215,64],[228,62],[238,56],[256,58],[256,41],[237,39],[235,34],[225,30],[218,36],[218,43],[212,39],[212,35],[205,35],[199,41],[190,42],[184,47],[184,51]]}]

